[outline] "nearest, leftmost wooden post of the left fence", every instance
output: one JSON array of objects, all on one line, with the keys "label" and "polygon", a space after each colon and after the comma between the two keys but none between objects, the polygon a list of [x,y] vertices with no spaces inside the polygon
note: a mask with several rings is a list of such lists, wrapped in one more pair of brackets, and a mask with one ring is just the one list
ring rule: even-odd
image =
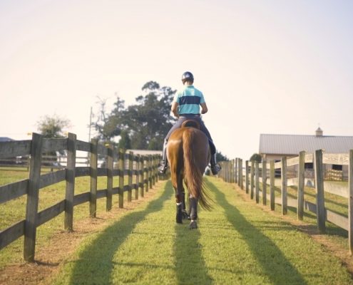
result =
[{"label": "nearest, leftmost wooden post of the left fence", "polygon": [[41,182],[41,151],[43,137],[32,134],[31,160],[29,166],[29,189],[26,205],[26,222],[24,227],[24,260],[33,262],[36,249],[36,219],[39,202],[39,185]]}]

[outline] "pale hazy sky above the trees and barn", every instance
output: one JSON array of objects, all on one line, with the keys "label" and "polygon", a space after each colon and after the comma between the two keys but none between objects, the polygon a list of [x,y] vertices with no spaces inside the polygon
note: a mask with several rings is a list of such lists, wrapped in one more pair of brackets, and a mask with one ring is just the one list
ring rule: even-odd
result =
[{"label": "pale hazy sky above the trees and barn", "polygon": [[88,141],[98,97],[194,74],[216,147],[248,159],[260,134],[353,135],[353,1],[0,1],[0,137],[46,115]]}]

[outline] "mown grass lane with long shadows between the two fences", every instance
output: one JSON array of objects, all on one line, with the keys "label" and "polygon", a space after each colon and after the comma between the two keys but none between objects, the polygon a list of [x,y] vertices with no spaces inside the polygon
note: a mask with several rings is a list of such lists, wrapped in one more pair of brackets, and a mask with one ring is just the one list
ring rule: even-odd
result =
[{"label": "mown grass lane with long shadows between the two fences", "polygon": [[352,284],[339,259],[208,178],[213,211],[199,228],[175,224],[170,182],[148,204],[87,238],[53,284]]}]

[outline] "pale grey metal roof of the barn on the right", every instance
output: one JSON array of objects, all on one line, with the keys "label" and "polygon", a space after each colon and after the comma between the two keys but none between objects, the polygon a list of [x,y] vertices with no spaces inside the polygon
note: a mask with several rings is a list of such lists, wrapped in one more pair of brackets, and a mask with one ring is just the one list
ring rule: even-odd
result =
[{"label": "pale grey metal roof of the barn on the right", "polygon": [[297,155],[302,150],[344,153],[353,149],[353,137],[329,135],[269,135],[260,134],[260,153]]}]

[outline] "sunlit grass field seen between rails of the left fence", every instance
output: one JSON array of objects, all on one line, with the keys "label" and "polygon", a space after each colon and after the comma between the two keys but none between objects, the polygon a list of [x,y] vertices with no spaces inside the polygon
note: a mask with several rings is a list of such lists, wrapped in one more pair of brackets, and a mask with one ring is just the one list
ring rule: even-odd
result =
[{"label": "sunlit grass field seen between rails of the left fence", "polygon": [[[49,170],[44,170],[48,172]],[[19,171],[14,169],[0,169],[0,185],[24,180],[29,177],[29,172],[26,170]],[[125,185],[128,184],[128,177],[125,177]],[[98,177],[98,190],[106,189],[106,177]],[[113,178],[113,187],[118,187],[118,177]],[[59,182],[55,185],[45,187],[39,191],[39,211],[50,207],[62,199],[65,199],[66,182]],[[77,177],[75,185],[75,195],[89,192],[90,177]],[[134,196],[133,190],[133,197]],[[124,193],[124,199],[127,199],[127,193]],[[113,195],[113,207],[118,207],[118,195]],[[21,221],[26,217],[26,195],[13,199],[4,204],[0,204],[0,230],[10,227],[11,224]],[[97,200],[97,217],[100,213],[106,212],[106,199]],[[78,205],[73,210],[73,228],[75,223],[80,219],[89,217],[88,202]],[[42,224],[37,229],[36,234],[36,251],[48,245],[53,234],[63,230],[63,213],[59,214],[54,219]],[[23,260],[24,237],[17,239],[9,244],[4,249],[0,250],[0,269],[7,264]]]}]

